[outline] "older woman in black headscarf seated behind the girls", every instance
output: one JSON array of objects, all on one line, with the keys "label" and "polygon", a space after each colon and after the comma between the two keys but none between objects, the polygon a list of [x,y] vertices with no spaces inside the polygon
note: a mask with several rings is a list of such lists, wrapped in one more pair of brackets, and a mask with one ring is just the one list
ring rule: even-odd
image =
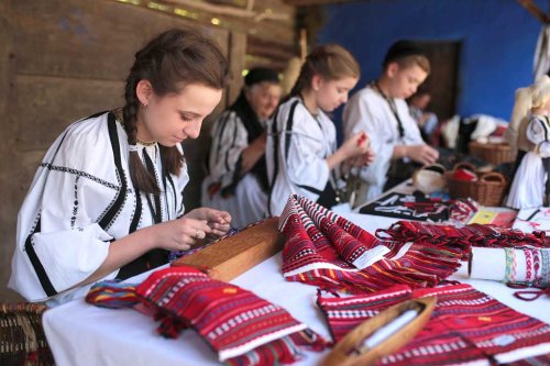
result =
[{"label": "older woman in black headscarf seated behind the girls", "polygon": [[253,68],[235,102],[212,127],[202,204],[227,210],[238,228],[266,217],[265,123],[279,99],[277,71]]}]

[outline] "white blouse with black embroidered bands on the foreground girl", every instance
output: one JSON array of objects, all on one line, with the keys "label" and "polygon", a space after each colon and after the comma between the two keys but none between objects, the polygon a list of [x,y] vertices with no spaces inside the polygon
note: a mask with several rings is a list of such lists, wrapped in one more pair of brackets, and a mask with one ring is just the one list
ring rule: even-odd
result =
[{"label": "white blouse with black embroidered bands on the foreground girl", "polygon": [[[184,214],[187,166],[179,176],[167,174],[156,143],[136,148],[156,177],[158,196],[134,189],[128,136],[113,113],[75,122],[57,137],[19,212],[10,288],[30,301],[84,296],[89,286],[63,291],[98,269],[112,241]],[[106,278],[128,278],[167,259],[167,251],[154,249]]]}]

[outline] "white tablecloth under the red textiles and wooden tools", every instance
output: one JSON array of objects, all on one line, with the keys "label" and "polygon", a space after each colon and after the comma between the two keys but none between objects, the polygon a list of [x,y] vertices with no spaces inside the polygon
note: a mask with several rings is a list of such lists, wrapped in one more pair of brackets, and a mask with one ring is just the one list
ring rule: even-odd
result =
[{"label": "white tablecloth under the red textiles and wooden tools", "polygon": [[[395,219],[342,213],[374,233],[388,228]],[[330,337],[321,311],[317,308],[317,288],[285,281],[280,274],[280,253],[263,262],[232,282],[287,309],[312,330]],[[550,323],[550,298],[526,302],[513,297],[512,289],[486,280],[469,280],[462,271],[451,279],[471,284],[509,307]],[[145,275],[134,278],[142,280]],[[157,324],[131,309],[111,310],[87,304],[82,299],[45,312],[44,330],[56,364],[64,365],[219,365],[216,354],[191,330],[176,340],[156,334]],[[550,350],[548,350],[550,352]],[[327,353],[327,352],[326,352]],[[305,352],[295,365],[318,365],[326,353]]]}]

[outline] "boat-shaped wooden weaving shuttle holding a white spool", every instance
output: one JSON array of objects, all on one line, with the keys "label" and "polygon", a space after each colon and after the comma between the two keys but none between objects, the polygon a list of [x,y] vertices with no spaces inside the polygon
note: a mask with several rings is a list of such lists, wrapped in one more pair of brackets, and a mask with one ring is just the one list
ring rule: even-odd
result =
[{"label": "boat-shaped wooden weaving shuttle holding a white spool", "polygon": [[[398,351],[410,342],[430,319],[436,302],[436,297],[427,297],[404,301],[382,311],[340,340],[322,365],[373,365],[378,358]],[[417,315],[405,325],[398,324],[408,318],[410,310]],[[392,328],[397,330],[388,335],[387,331]]]}]

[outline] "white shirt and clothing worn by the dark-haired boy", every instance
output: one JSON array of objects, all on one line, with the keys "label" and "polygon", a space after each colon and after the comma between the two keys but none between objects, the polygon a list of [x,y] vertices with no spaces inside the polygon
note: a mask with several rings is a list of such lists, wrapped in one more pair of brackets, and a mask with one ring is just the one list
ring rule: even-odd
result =
[{"label": "white shirt and clothing worn by the dark-haired boy", "polygon": [[[396,164],[392,162],[396,145],[424,144],[420,130],[410,117],[407,103],[403,99],[388,98],[382,93],[376,84],[358,91],[348,102],[343,112],[344,138],[365,131],[369,134],[371,147],[376,152],[374,163],[363,167],[360,171],[362,185],[356,195],[358,202],[366,202],[378,197],[388,185],[399,181],[388,181],[392,176],[407,170],[410,160]],[[391,167],[395,166],[391,170]],[[396,170],[396,171],[393,171]],[[409,177],[403,175],[405,180]],[[397,178],[399,180],[399,178]],[[386,187],[386,189],[385,189]]]}]

